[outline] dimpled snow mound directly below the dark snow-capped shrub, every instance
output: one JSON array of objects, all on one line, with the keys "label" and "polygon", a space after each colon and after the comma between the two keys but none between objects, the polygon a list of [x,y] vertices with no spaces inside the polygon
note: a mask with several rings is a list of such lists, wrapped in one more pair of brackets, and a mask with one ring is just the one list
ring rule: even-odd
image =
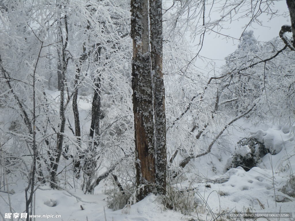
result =
[{"label": "dimpled snow mound directly below the dark snow-capped shrub", "polygon": [[[241,166],[229,169],[222,177],[227,177],[228,181],[224,183],[196,184],[198,194],[195,195],[195,201],[198,197],[204,199],[212,212],[218,212],[220,209],[227,211],[243,212],[251,210],[253,212],[273,212],[278,209],[276,203],[287,202],[290,198],[283,192],[278,191],[278,186],[285,182],[285,178],[276,176],[273,179],[271,170],[253,167],[245,171]],[[216,176],[216,178],[220,178]],[[274,188],[276,197],[274,195]],[[281,199],[278,199],[278,196]],[[200,200],[199,200],[200,201]],[[291,204],[280,204],[281,212],[290,212]],[[269,208],[274,208],[272,211]]]}]

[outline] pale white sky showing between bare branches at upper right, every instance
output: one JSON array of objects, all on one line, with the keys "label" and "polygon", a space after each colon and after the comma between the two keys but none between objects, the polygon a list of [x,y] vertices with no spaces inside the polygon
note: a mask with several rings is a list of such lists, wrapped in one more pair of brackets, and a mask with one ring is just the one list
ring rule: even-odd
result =
[{"label": "pale white sky showing between bare branches at upper right", "polygon": [[[225,0],[222,0],[225,2]],[[273,17],[270,20],[270,16],[263,14],[259,17],[259,20],[263,23],[263,26],[258,24],[253,24],[248,27],[246,30],[253,30],[254,36],[258,41],[267,42],[274,37],[277,37],[281,26],[284,24],[290,24],[289,10],[285,0],[275,2],[275,7],[278,9],[279,14],[286,14],[286,16]],[[219,15],[217,15],[219,16]],[[240,19],[239,21],[233,21],[231,24],[228,24],[228,29],[223,29],[222,34],[230,35],[231,37],[239,39],[241,33],[245,27],[245,24],[249,22],[249,19]],[[240,43],[239,40],[225,39],[224,36],[218,35],[211,32],[211,34],[206,33],[203,48],[199,55],[214,59],[215,67],[220,67],[225,64],[224,57],[234,52],[237,49],[237,45]],[[191,45],[198,44],[199,38],[196,38],[195,42],[191,42]],[[196,49],[196,47],[195,47]],[[197,53],[197,49],[195,50]],[[201,69],[206,69],[206,71],[201,72],[212,72],[212,66],[207,67],[207,63],[201,59],[197,59],[195,62],[197,67]],[[213,74],[213,73],[212,73]]]}]

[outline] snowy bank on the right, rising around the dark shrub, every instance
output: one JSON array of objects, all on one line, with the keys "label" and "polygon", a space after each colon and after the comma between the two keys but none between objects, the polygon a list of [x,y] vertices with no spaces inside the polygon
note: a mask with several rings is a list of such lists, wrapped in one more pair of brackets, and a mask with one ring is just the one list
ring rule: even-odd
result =
[{"label": "snowy bank on the right, rising around the dark shrub", "polygon": [[[209,205],[214,214],[220,211],[293,212],[294,216],[294,128],[273,126],[257,130],[246,122],[239,123],[244,124],[244,128],[249,126],[248,131],[229,134],[227,140],[231,144],[228,142],[223,147],[216,144],[210,154],[194,159],[186,169],[188,180],[182,182],[181,187],[192,189],[194,202]],[[232,165],[237,168],[224,173],[228,158],[232,162],[238,154],[250,157],[254,153],[255,149],[250,146],[240,145],[240,149],[235,146],[244,137],[258,141],[256,149],[262,144],[266,153],[251,168],[245,168],[240,161],[241,165]],[[256,144],[253,142],[253,146]]]}]

